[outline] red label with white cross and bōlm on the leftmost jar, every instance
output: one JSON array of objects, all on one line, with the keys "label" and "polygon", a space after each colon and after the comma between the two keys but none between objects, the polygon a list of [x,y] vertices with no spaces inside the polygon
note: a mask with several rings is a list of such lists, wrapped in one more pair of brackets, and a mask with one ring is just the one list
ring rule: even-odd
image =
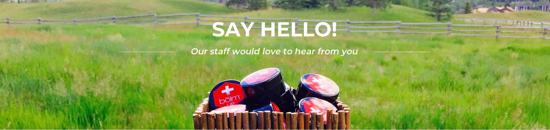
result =
[{"label": "red label with white cross and b\u014dlm on the leftmost jar", "polygon": [[243,88],[237,83],[223,83],[213,93],[214,105],[218,107],[239,104],[245,97]]}]

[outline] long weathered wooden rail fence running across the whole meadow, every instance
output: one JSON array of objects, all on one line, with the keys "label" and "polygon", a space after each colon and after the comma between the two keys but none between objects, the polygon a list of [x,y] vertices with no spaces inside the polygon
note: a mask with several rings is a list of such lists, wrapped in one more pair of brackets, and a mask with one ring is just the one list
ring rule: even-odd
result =
[{"label": "long weathered wooden rail fence running across the whole meadow", "polygon": [[[478,22],[480,19],[457,19],[463,21]],[[0,18],[0,24],[8,26],[14,24],[35,24],[35,25],[78,25],[78,24],[134,24],[136,26],[146,25],[196,25],[212,26],[213,22],[296,22],[295,30],[302,30],[298,27],[305,26],[307,31],[315,31],[317,22],[337,22],[336,31],[347,33],[413,33],[413,34],[447,34],[448,36],[493,36],[496,38],[543,38],[547,36],[548,22],[514,21],[503,19],[492,19],[494,21],[481,20],[482,22],[495,25],[455,25],[452,23],[411,23],[401,21],[349,21],[349,20],[303,20],[298,18],[290,19],[267,19],[248,18],[247,16],[218,16],[194,14],[168,14],[168,15],[133,15],[133,16],[111,16],[94,19],[10,19]],[[313,23],[313,24],[311,24]],[[496,24],[518,24],[527,26],[502,26]],[[540,26],[538,26],[540,24]],[[239,25],[239,24],[238,24]],[[271,24],[266,24],[270,25]],[[277,24],[275,24],[277,25]],[[537,25],[537,26],[535,26]],[[225,24],[223,26],[229,26]],[[255,24],[252,29],[261,29],[260,24]],[[290,29],[290,28],[289,28]],[[322,30],[322,29],[321,29]],[[326,31],[326,30],[322,30]],[[515,34],[515,35],[511,35]]]}]

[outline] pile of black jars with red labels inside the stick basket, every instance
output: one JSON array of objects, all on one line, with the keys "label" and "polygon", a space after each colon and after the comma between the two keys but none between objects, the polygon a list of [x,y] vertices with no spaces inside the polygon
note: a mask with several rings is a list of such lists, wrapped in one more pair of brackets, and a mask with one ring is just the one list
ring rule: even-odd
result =
[{"label": "pile of black jars with red labels inside the stick basket", "polygon": [[[211,109],[218,112],[277,111],[318,112],[336,110],[340,89],[334,81],[306,74],[294,89],[283,81],[281,70],[268,68],[253,72],[241,81],[226,80],[210,92]],[[326,116],[325,116],[326,117]],[[326,118],[324,118],[326,122]]]}]

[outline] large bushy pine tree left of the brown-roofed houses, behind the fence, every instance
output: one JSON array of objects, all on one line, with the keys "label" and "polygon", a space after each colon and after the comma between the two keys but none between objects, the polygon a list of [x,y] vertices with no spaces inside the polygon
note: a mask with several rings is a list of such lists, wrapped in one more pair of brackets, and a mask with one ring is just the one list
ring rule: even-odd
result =
[{"label": "large bushy pine tree left of the brown-roofed houses, behind the fence", "polygon": [[446,21],[453,18],[453,9],[447,5],[451,0],[430,0],[431,5],[428,5],[427,10],[430,13],[426,15],[436,18],[437,21]]}]

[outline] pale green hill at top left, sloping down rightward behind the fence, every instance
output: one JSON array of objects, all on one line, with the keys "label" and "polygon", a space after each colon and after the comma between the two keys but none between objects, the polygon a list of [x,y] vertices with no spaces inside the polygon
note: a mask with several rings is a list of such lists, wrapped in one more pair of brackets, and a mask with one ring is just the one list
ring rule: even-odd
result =
[{"label": "pale green hill at top left, sloping down rightward behind the fence", "polygon": [[0,3],[0,17],[14,19],[90,19],[139,14],[228,14],[240,12],[222,4],[193,0],[75,0],[44,3]]}]

